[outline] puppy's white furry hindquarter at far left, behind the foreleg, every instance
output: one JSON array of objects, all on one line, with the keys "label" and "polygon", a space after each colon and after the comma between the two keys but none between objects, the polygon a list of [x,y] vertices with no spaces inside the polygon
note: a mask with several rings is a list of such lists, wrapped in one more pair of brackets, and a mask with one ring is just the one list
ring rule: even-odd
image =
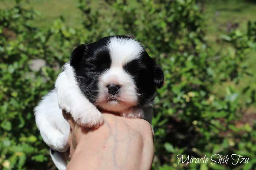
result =
[{"label": "puppy's white furry hindquarter at far left, behind the foreleg", "polygon": [[48,146],[60,152],[68,150],[69,124],[58,106],[56,90],[50,91],[35,107],[35,122]]}]

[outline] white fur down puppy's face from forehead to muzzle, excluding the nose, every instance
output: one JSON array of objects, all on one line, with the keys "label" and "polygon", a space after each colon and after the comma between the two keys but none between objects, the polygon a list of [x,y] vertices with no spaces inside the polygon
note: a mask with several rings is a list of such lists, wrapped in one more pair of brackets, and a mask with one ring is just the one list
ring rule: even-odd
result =
[{"label": "white fur down puppy's face from forehead to muzzle, excluding the nose", "polygon": [[[99,78],[97,105],[109,111],[128,111],[129,107],[137,104],[138,94],[131,75],[123,69],[123,66],[131,60],[138,58],[143,52],[143,47],[138,41],[133,39],[111,37],[108,48],[110,51],[111,66]],[[109,95],[108,88],[106,88],[108,84],[121,86],[116,96],[118,102],[106,102],[106,98]]]}]

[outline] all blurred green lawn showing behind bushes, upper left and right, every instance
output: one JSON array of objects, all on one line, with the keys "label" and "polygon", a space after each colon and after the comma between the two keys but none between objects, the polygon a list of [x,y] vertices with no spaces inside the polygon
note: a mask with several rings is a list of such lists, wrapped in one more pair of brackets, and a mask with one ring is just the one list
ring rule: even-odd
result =
[{"label": "all blurred green lawn showing behind bushes, upper left and right", "polygon": [[[0,9],[8,8],[14,5],[14,0],[0,0]],[[77,1],[74,0],[29,0],[22,2],[27,8],[33,7],[41,13],[34,21],[34,24],[46,28],[53,24],[54,20],[61,15],[66,19],[66,23],[72,27],[79,27],[83,17],[82,12],[76,7]],[[133,1],[129,1],[133,4]],[[102,1],[93,1],[95,9],[100,9],[107,13]],[[256,20],[256,2],[253,0],[205,0],[204,16],[206,19],[206,40],[213,48],[219,50],[223,44],[218,44],[217,40],[221,35],[226,34],[230,27],[237,27],[241,32],[246,31],[247,22]],[[224,47],[226,48],[226,47]],[[248,65],[252,73],[256,72],[254,63],[256,62],[256,52],[248,54]],[[243,88],[246,84],[252,82],[252,78],[246,77],[242,83],[235,85],[233,82],[217,87],[218,94],[225,93],[226,86]],[[256,76],[253,77],[256,79]],[[221,93],[220,93],[221,91]],[[242,96],[242,100],[246,96]]]}]

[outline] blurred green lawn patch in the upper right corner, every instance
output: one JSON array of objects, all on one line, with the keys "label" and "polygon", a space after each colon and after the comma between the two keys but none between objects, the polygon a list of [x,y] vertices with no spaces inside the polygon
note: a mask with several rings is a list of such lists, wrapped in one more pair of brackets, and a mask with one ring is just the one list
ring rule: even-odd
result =
[{"label": "blurred green lawn patch in the upper right corner", "polygon": [[227,32],[229,25],[238,24],[246,31],[247,22],[256,20],[256,2],[242,0],[208,0],[204,6],[207,23],[207,40],[214,42]]}]

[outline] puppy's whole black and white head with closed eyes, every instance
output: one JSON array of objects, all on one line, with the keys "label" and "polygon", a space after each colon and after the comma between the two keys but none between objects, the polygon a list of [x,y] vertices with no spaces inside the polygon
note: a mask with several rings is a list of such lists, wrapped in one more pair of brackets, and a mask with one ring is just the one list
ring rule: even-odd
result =
[{"label": "puppy's whole black and white head with closed eyes", "polygon": [[126,36],[80,45],[72,52],[70,65],[83,94],[109,111],[151,102],[164,80],[161,67],[143,46]]}]

